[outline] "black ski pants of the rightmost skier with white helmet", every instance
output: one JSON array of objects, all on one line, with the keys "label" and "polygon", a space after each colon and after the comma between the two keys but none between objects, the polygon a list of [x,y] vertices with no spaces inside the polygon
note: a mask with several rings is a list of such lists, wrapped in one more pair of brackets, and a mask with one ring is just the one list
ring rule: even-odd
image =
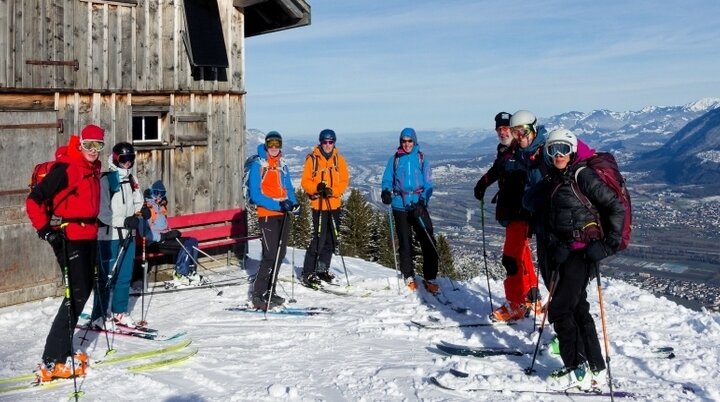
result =
[{"label": "black ski pants of the rightmost skier with white helmet", "polygon": [[559,280],[548,309],[560,342],[560,357],[565,367],[588,362],[593,371],[605,368],[595,321],[590,315],[587,285],[595,263],[585,257],[585,250],[573,250],[560,264]]}]

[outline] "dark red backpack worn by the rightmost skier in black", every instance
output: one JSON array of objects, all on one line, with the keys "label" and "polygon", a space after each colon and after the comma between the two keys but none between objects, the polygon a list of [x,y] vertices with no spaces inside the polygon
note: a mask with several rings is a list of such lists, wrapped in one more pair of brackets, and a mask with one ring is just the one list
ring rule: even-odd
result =
[{"label": "dark red backpack worn by the rightmost skier in black", "polygon": [[[630,192],[628,192],[627,186],[625,185],[625,178],[622,174],[620,174],[620,169],[618,169],[615,157],[609,152],[597,152],[588,159],[586,163],[587,167],[595,171],[600,180],[605,183],[605,185],[607,185],[615,193],[615,195],[617,195],[618,199],[623,204],[625,210],[625,221],[622,227],[622,237],[618,251],[625,250],[630,244],[630,234],[632,232],[632,204],[630,202]],[[583,168],[584,166],[581,166],[575,171],[575,180],[572,181],[572,186],[576,190],[575,194],[580,202],[582,202],[583,205],[585,205],[585,207],[596,216],[596,219],[600,222],[601,227],[609,227],[607,219],[604,219],[602,216],[598,217],[599,213],[597,208],[592,205],[590,200],[588,200],[585,194],[580,191],[580,188],[577,185],[578,174]]]}]

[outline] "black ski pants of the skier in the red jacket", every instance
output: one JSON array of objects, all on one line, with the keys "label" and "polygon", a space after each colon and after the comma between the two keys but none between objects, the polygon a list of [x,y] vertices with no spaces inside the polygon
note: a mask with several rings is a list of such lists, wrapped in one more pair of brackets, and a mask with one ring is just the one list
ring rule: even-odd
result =
[{"label": "black ski pants of the skier in the red jacket", "polygon": [[61,271],[67,265],[70,297],[63,299],[50,326],[43,351],[43,362],[62,362],[71,355],[72,338],[80,313],[93,288],[93,272],[96,264],[96,240],[65,240],[65,250],[58,248],[55,256]]}]

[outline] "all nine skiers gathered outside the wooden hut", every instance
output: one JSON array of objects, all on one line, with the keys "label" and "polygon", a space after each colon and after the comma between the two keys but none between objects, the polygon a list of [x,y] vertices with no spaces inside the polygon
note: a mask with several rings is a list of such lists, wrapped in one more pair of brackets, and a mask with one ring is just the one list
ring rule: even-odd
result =
[{"label": "all nine skiers gathered outside the wooden hut", "polygon": [[[606,366],[585,288],[596,274],[598,262],[618,250],[623,205],[592,169],[583,168],[594,151],[569,130],[545,133],[526,110],[497,114],[495,127],[497,157],[474,188],[484,208],[486,190],[498,183],[492,202],[498,222],[505,227],[502,265],[507,272],[507,303],[493,311],[491,319],[513,321],[545,311],[554,325],[564,364],[551,374],[549,386],[600,387],[606,381]],[[305,158],[301,179],[313,222],[301,283],[311,288],[334,280],[329,267],[338,245],[342,196],[349,185],[348,166],[336,142],[333,130],[320,132],[318,145]],[[297,213],[300,205],[282,146],[280,133],[268,132],[246,166],[248,202],[257,207],[262,234],[262,258],[251,304],[261,310],[285,301],[274,287],[287,249],[288,215]],[[81,352],[71,356],[72,337],[68,334],[93,290],[96,253],[100,269],[94,325],[104,326],[106,319],[118,325],[137,325],[127,311],[136,230],[148,233],[149,241],[161,248],[188,254],[184,258],[192,260],[190,268],[179,275],[188,283],[199,280],[194,264],[197,254],[192,253],[197,244],[167,227],[162,182],[140,193],[130,174],[135,151],[125,142],[113,147],[108,172],[101,175],[98,156],[103,147],[104,131],[98,126],[88,125],[79,136],[71,136],[66,153],[32,189],[26,202],[28,216],[38,236],[52,245],[67,285],[65,303],[55,317],[38,369],[40,381],[84,374],[87,356]],[[597,215],[575,195],[577,191],[607,218],[607,227],[600,227]],[[428,212],[432,194],[430,162],[420,151],[415,130],[405,128],[382,176],[381,201],[390,206],[391,235],[393,240],[397,235],[400,256],[396,268],[406,287],[415,291],[418,286],[411,246],[414,232],[423,255],[422,285],[437,294],[438,253]],[[538,268],[550,294],[545,306],[529,244],[533,235]],[[112,314],[106,317],[108,311]]]}]

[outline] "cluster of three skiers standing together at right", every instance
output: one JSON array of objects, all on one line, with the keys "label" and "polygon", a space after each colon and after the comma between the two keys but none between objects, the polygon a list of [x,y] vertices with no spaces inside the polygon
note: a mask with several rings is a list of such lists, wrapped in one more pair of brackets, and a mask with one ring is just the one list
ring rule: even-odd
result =
[{"label": "cluster of three skiers standing together at right", "polygon": [[[543,311],[528,243],[534,235],[538,268],[550,293],[544,309],[563,361],[549,376],[548,387],[601,388],[607,383],[607,367],[586,287],[599,273],[598,263],[618,251],[624,206],[596,172],[586,168],[595,151],[570,130],[545,133],[527,110],[498,113],[495,125],[497,158],[475,186],[483,207],[486,189],[498,182],[493,202],[496,218],[505,227],[507,303],[491,318],[517,320]],[[598,216],[606,222],[602,226]]]}]

